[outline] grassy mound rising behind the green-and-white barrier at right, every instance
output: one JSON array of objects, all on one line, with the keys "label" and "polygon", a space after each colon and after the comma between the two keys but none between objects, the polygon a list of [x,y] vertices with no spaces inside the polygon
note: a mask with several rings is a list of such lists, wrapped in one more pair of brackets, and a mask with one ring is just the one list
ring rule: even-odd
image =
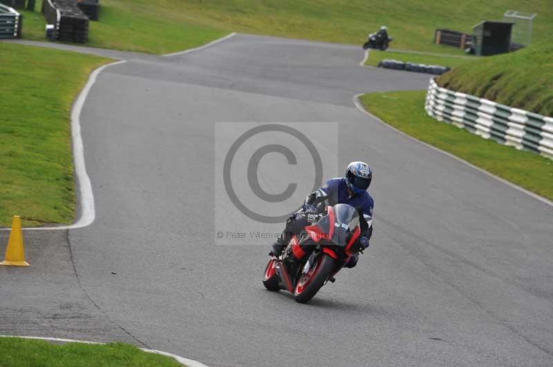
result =
[{"label": "grassy mound rising behind the green-and-white barrier at right", "polygon": [[469,61],[438,78],[444,88],[553,116],[553,44]]}]

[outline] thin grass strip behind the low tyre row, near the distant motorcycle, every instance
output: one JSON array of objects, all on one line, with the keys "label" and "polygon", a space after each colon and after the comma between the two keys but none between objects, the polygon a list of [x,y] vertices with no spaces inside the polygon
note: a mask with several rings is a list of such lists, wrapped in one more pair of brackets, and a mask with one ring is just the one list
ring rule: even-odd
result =
[{"label": "thin grass strip behind the low tyre row, near the distant motorcycle", "polygon": [[461,66],[467,62],[475,59],[476,57],[469,56],[456,56],[456,55],[438,55],[438,54],[420,54],[417,52],[394,52],[394,51],[379,51],[370,50],[368,52],[368,59],[365,61],[365,65],[378,66],[378,63],[384,59],[393,59],[397,61],[411,62],[411,63],[426,63],[427,65],[440,65],[449,66],[454,68]]}]

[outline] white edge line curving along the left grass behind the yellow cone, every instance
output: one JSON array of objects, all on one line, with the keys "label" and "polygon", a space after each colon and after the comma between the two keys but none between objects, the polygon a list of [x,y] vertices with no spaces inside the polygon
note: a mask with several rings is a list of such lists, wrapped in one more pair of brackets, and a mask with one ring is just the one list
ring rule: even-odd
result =
[{"label": "white edge line curving along the left grass behind the yellow cone", "polygon": [[[96,81],[96,77],[108,66],[118,65],[120,63],[126,63],[125,60],[115,61],[113,63],[108,63],[100,68],[95,69],[91,76],[88,77],[84,88],[82,88],[79,93],[79,97],[73,103],[73,108],[71,109],[71,139],[73,141],[73,163],[75,165],[75,175],[77,176],[77,186],[79,188],[79,219],[69,226],[53,226],[53,227],[30,227],[23,228],[24,230],[66,230],[66,229],[75,229],[90,226],[95,219],[95,208],[94,208],[94,195],[92,192],[91,179],[86,173],[86,166],[84,164],[84,146],[81,136],[81,122],[80,116],[82,107],[84,106],[84,101],[88,96],[88,92],[91,90],[92,86]],[[0,230],[10,230],[10,228],[0,228]]]}]

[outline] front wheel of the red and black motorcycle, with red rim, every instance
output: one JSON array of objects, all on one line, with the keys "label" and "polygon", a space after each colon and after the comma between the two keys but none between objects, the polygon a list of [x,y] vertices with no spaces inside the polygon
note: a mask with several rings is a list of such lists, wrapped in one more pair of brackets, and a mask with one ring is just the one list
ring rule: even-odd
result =
[{"label": "front wheel of the red and black motorcycle, with red rim", "polygon": [[321,252],[315,257],[313,264],[307,274],[302,274],[296,288],[294,297],[300,304],[305,304],[315,297],[319,289],[328,280],[332,271],[336,268],[336,261],[332,257]]}]

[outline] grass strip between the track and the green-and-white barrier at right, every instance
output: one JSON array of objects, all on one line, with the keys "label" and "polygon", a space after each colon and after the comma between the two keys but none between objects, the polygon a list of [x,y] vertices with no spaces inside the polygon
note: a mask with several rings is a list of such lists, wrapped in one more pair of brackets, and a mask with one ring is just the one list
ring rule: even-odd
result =
[{"label": "grass strip between the track and the green-and-white barrier at right", "polygon": [[553,161],[432,119],[424,110],[425,97],[424,91],[409,91],[371,93],[360,99],[369,112],[406,134],[553,199]]}]

